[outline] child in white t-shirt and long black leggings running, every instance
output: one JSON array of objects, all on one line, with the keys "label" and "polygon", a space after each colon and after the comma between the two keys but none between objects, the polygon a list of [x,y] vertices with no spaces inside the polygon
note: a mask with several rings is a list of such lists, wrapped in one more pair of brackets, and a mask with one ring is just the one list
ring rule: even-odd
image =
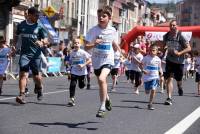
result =
[{"label": "child in white t-shirt and long black leggings running", "polygon": [[87,68],[91,62],[91,56],[85,50],[80,49],[80,39],[76,38],[73,41],[74,49],[70,53],[70,64],[71,64],[71,82],[69,87],[70,100],[68,106],[75,105],[75,89],[78,81],[79,88],[85,87],[85,76],[87,75]]}]

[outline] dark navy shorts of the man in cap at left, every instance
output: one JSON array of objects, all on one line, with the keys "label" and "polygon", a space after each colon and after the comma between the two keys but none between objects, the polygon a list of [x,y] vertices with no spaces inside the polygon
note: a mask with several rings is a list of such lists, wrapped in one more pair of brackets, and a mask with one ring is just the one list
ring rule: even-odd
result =
[{"label": "dark navy shorts of the man in cap at left", "polygon": [[33,75],[38,75],[41,72],[42,58],[29,58],[27,55],[21,55],[19,59],[20,72],[32,71]]}]

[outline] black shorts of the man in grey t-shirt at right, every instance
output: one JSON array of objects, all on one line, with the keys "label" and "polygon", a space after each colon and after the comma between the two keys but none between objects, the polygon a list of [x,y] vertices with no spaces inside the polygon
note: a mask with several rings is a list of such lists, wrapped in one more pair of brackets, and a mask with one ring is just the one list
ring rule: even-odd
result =
[{"label": "black shorts of the man in grey t-shirt at right", "polygon": [[176,81],[182,81],[183,79],[184,64],[173,63],[166,60],[166,79],[173,77]]}]

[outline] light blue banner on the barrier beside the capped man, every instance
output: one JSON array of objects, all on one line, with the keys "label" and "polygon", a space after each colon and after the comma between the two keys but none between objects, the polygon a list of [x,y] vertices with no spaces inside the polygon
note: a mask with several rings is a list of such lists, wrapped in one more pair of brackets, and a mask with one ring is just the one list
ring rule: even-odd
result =
[{"label": "light blue banner on the barrier beside the capped man", "polygon": [[47,72],[48,73],[58,73],[60,72],[61,65],[62,65],[62,60],[60,57],[47,57],[48,61],[48,68]]}]

